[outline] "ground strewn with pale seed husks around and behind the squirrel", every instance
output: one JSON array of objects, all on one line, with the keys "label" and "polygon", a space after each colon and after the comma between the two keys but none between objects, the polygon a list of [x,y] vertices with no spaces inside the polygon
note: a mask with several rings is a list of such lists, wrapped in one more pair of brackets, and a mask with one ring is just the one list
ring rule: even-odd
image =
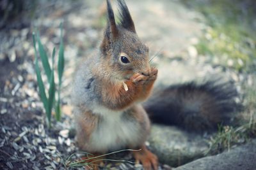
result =
[{"label": "ground strewn with pale seed husks around and behind the squirrel", "polygon": [[[255,59],[250,60],[252,65],[249,69],[246,67],[247,72],[240,65],[237,67],[236,62],[232,64],[232,60],[230,67],[223,66],[222,61],[216,62],[220,57],[214,58],[205,52],[214,47],[202,48],[202,44],[207,44],[207,38],[201,39],[202,36],[207,37],[211,33],[209,25],[204,24],[205,18],[200,11],[190,10],[185,4],[164,0],[127,2],[138,35],[150,47],[151,55],[158,56],[154,62],[159,64],[161,59],[168,60],[171,66],[179,68],[173,71],[173,74],[177,73],[173,75],[173,82],[180,81],[180,74],[186,73],[182,81],[188,81],[187,77],[191,80],[198,75],[221,72],[236,81],[237,90],[241,92],[238,101],[244,102],[244,85],[253,86],[255,83],[255,71],[250,69],[255,66]],[[2,9],[4,3],[0,5]],[[29,5],[23,6],[18,17],[11,16],[10,20],[0,22],[0,169],[65,169],[63,159],[77,152],[70,106],[72,75],[77,63],[90,55],[99,44],[106,24],[102,13],[104,4],[100,1],[38,0],[36,4]],[[63,117],[61,122],[53,120],[49,129],[37,93],[32,32],[40,32],[42,43],[50,53],[53,46],[58,50],[60,45],[58,27],[62,21],[66,60],[61,92]],[[255,50],[255,39],[248,42]],[[247,66],[247,60],[242,62],[242,66]],[[181,67],[190,69],[184,72]],[[163,75],[159,76],[159,80],[163,80],[167,73],[165,69],[159,69],[159,74]],[[45,76],[43,80],[46,80]],[[253,93],[252,89],[250,94]],[[253,99],[252,96],[248,99],[252,109],[255,106],[251,102]],[[253,112],[252,109],[250,111]],[[250,117],[249,113],[247,117]],[[74,159],[79,155],[77,153]],[[115,159],[133,161],[129,154],[118,155]],[[138,164],[124,162],[108,162],[108,166],[113,169],[134,169],[134,166],[140,169]],[[159,168],[168,169],[168,166],[161,164]]]}]

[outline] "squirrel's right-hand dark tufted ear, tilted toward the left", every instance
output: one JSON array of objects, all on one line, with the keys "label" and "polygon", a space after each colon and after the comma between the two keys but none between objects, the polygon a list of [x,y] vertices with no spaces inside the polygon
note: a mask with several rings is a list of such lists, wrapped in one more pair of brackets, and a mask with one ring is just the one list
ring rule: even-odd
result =
[{"label": "squirrel's right-hand dark tufted ear, tilted toward the left", "polygon": [[129,13],[127,5],[124,0],[118,0],[119,13],[120,13],[120,25],[129,31],[136,32],[132,17]]}]

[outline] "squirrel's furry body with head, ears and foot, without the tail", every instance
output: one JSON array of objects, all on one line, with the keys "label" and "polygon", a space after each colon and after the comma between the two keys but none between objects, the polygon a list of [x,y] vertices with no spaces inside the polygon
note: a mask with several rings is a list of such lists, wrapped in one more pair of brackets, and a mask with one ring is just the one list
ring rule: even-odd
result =
[{"label": "squirrel's furry body with head, ears and foot, without the tail", "polygon": [[86,58],[77,70],[72,94],[77,144],[90,153],[142,148],[139,155],[134,153],[136,160],[145,169],[157,169],[156,156],[144,145],[150,121],[140,104],[150,96],[157,69],[150,67],[148,47],[138,38],[125,2],[118,3],[121,23],[116,25],[107,0],[108,25],[99,52]]}]

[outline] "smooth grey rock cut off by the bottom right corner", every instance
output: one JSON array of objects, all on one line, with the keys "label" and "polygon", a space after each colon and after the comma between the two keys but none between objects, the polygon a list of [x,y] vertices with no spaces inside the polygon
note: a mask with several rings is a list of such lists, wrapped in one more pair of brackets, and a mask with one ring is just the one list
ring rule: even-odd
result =
[{"label": "smooth grey rock cut off by the bottom right corner", "polygon": [[243,145],[237,146],[230,152],[220,153],[211,157],[204,157],[195,160],[184,166],[177,167],[173,170],[240,170],[240,169],[256,169],[256,139]]}]

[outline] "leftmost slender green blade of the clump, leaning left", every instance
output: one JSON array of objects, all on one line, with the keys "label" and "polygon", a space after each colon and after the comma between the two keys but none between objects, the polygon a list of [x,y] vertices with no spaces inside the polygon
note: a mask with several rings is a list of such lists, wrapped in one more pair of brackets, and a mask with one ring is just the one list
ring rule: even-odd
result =
[{"label": "leftmost slender green blade of the clump, leaning left", "polygon": [[[40,93],[40,97],[42,100],[42,103],[44,104],[44,109],[46,111],[46,113],[49,112],[49,104],[48,104],[48,99],[46,97],[45,94],[45,87],[44,87],[44,83],[42,80],[42,76],[40,74],[40,68],[39,68],[39,64],[38,64],[38,56],[36,53],[36,41],[35,41],[35,33],[33,32],[33,46],[34,46],[34,50],[35,50],[35,70],[36,70],[36,79],[37,79],[37,83],[38,83],[38,88],[39,88],[39,93]],[[49,119],[49,117],[47,117],[49,120],[49,125],[51,126],[51,118]]]}]

